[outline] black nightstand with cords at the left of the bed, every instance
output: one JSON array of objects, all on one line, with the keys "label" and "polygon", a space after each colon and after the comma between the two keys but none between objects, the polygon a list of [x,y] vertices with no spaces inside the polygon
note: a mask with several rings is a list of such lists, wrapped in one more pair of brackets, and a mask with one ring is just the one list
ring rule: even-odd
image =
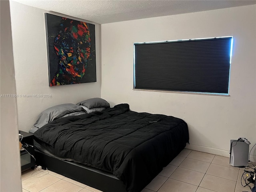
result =
[{"label": "black nightstand with cords at the left of the bed", "polygon": [[[35,160],[32,156],[35,155],[34,151],[34,135],[24,131],[19,131],[20,142],[22,144],[22,149],[20,150],[20,164],[21,171],[27,170],[29,168],[34,169]],[[22,138],[23,136],[23,138]],[[32,156],[31,156],[32,155]]]}]

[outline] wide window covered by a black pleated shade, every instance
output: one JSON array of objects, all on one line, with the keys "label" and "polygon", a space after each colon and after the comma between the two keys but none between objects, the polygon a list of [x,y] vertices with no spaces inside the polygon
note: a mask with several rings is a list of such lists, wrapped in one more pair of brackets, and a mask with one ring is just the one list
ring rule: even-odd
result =
[{"label": "wide window covered by a black pleated shade", "polygon": [[228,95],[232,37],[134,44],[134,88]]}]

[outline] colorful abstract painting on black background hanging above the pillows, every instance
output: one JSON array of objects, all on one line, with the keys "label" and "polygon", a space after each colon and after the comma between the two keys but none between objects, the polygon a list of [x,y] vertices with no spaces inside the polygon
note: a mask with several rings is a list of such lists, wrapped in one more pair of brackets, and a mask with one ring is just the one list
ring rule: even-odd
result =
[{"label": "colorful abstract painting on black background hanging above the pillows", "polygon": [[95,25],[45,13],[49,86],[96,82]]}]

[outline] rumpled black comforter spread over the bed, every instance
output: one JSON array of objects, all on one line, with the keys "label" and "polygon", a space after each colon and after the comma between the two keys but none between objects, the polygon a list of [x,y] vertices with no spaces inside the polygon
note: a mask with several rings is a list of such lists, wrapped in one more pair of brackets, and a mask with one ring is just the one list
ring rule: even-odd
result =
[{"label": "rumpled black comforter spread over the bed", "polygon": [[128,192],[139,192],[186,146],[188,126],[179,118],[119,104],[54,120],[34,137],[51,146],[55,156],[110,172]]}]

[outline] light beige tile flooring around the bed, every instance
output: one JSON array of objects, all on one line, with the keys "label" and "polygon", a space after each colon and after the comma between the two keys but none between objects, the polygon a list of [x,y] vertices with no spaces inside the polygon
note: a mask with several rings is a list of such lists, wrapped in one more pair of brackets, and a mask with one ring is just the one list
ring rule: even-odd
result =
[{"label": "light beige tile flooring around the bed", "polygon": [[[230,166],[229,158],[184,149],[142,192],[249,192],[240,182],[243,170]],[[48,170],[22,172],[22,188],[23,192],[100,192]]]}]

